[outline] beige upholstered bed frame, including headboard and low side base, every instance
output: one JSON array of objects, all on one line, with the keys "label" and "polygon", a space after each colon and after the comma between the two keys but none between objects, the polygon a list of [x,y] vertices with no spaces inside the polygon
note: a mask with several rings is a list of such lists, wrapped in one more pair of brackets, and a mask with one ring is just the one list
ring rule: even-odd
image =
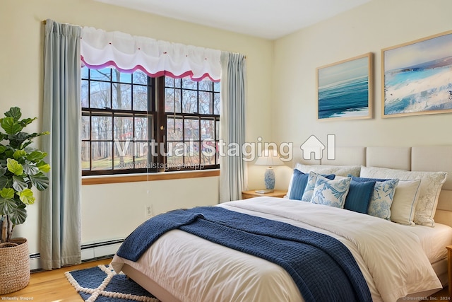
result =
[{"label": "beige upholstered bed frame, including headboard and low side base", "polygon": [[[295,160],[297,161],[297,160]],[[336,147],[335,159],[302,161],[307,164],[323,165],[367,165],[412,171],[444,171],[448,177],[439,196],[434,220],[452,226],[452,146],[413,146],[413,147]],[[444,247],[446,248],[446,247]],[[441,283],[448,283],[447,260],[432,265]],[[141,272],[129,265],[124,265],[123,272],[164,302],[180,302],[168,291],[148,279]],[[429,296],[435,291],[412,294],[412,297]],[[403,301],[403,299],[399,299]]]}]

